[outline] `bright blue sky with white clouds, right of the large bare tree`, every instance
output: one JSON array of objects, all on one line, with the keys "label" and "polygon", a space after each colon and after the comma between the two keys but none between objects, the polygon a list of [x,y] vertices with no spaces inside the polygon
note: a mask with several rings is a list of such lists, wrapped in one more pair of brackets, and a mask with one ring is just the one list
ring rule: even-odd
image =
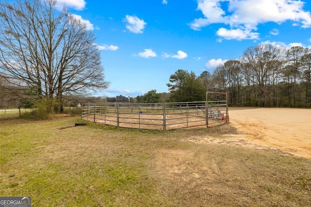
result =
[{"label": "bright blue sky with white clouds, right of the large bare tree", "polygon": [[260,43],[311,48],[307,0],[58,0],[95,33],[109,89],[138,96],[178,69],[199,76]]}]

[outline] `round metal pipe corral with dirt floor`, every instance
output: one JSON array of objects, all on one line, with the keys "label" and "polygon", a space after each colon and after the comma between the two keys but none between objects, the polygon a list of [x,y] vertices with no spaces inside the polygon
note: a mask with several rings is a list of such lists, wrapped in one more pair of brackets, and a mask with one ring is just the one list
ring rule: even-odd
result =
[{"label": "round metal pipe corral with dirt floor", "polygon": [[[82,119],[116,127],[171,130],[228,122],[222,101],[178,103],[88,103]],[[206,107],[207,106],[207,107]]]}]

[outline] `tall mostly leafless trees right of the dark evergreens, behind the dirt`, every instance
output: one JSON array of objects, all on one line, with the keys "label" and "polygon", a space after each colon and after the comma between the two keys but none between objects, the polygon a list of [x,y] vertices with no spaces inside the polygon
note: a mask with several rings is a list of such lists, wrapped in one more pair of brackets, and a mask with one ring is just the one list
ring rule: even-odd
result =
[{"label": "tall mostly leafless trees right of the dark evergreens, behind the dirt", "polygon": [[216,68],[212,90],[231,106],[311,108],[311,49],[260,44]]}]

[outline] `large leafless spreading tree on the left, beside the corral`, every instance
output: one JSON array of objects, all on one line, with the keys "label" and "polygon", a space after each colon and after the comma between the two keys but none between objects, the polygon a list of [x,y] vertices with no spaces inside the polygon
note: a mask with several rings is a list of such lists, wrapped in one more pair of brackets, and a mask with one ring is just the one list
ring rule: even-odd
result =
[{"label": "large leafless spreading tree on the left, beside the corral", "polygon": [[0,74],[19,88],[57,100],[62,111],[65,95],[106,89],[109,83],[93,32],[55,4],[0,1]]}]

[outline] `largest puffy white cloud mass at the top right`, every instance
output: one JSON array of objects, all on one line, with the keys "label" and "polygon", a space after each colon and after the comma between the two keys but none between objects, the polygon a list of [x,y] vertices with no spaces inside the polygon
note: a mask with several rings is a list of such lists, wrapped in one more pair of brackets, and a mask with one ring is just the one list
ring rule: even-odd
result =
[{"label": "largest puffy white cloud mass at the top right", "polygon": [[[224,11],[222,4],[228,4]],[[293,21],[293,25],[311,27],[311,13],[304,11],[300,0],[198,0],[197,10],[202,11],[201,18],[194,19],[189,25],[193,30],[200,30],[214,23],[229,25],[230,29],[221,28],[217,35],[226,39],[258,39],[257,26],[265,22]]]}]

